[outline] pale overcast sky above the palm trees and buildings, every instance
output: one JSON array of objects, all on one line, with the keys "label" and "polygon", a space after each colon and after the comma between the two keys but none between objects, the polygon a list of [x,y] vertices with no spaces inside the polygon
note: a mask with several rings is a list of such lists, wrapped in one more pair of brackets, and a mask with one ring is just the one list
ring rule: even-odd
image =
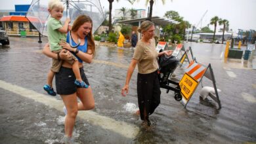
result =
[{"label": "pale overcast sky above the palm trees and buildings", "polygon": [[[145,1],[136,1],[133,5],[126,0],[119,0],[118,3],[114,1],[112,14],[114,14],[114,9],[121,9],[121,7],[148,10],[149,5],[145,5]],[[0,10],[14,9],[14,5],[30,4],[31,2],[32,0],[0,0]],[[108,0],[100,0],[100,3],[105,10],[108,10]],[[165,5],[161,0],[155,0],[153,16],[162,17],[168,10],[179,12],[184,20],[190,24],[198,25],[198,27],[201,27],[199,22],[207,10],[202,19],[202,27],[207,26],[213,16],[219,16],[219,18],[228,20],[230,28],[235,32],[238,29],[256,30],[256,0],[173,0],[172,2],[165,0]]]}]

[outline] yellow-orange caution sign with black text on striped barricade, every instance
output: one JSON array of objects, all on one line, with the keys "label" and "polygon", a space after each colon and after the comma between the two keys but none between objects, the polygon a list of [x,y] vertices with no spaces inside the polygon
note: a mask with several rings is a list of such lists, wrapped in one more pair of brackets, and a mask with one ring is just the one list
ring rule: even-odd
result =
[{"label": "yellow-orange caution sign with black text on striped barricade", "polygon": [[185,73],[181,81],[179,82],[179,86],[181,87],[181,94],[183,98],[188,100],[198,87],[198,81],[196,81],[193,77]]}]

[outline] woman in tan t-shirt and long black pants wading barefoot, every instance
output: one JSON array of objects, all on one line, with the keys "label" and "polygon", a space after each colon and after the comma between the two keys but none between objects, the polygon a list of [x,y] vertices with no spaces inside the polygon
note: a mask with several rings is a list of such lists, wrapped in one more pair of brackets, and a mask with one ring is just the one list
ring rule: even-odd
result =
[{"label": "woman in tan t-shirt and long black pants wading barefoot", "polygon": [[154,23],[146,20],[142,22],[138,31],[142,33],[142,39],[140,39],[136,45],[133,59],[127,71],[125,86],[123,86],[121,94],[126,96],[128,93],[131,76],[138,64],[137,94],[140,119],[144,120],[144,122],[150,126],[149,115],[152,115],[156,107],[160,104],[161,91],[158,80],[157,58],[163,54],[170,56],[173,51],[165,50],[160,53],[157,52],[154,40]]}]

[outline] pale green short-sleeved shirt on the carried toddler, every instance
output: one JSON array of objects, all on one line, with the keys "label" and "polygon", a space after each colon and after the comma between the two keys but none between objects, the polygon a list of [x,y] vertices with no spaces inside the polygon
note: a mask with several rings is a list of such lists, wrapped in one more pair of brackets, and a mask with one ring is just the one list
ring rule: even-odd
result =
[{"label": "pale green short-sleeved shirt on the carried toddler", "polygon": [[58,31],[60,27],[63,27],[59,20],[50,17],[47,22],[47,33],[48,33],[48,41],[50,44],[50,48],[52,51],[60,50],[62,47],[58,45],[60,43],[60,39],[66,41],[66,33],[61,33]]}]

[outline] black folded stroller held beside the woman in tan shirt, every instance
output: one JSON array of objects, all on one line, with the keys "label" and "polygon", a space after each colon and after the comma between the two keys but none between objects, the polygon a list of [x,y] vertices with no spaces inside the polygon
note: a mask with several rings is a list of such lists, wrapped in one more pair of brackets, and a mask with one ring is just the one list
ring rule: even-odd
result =
[{"label": "black folded stroller held beside the woman in tan shirt", "polygon": [[[161,50],[160,50],[161,52]],[[179,86],[179,82],[171,81],[168,78],[173,74],[177,66],[179,65],[179,60],[175,56],[160,56],[158,60],[159,64],[159,71],[158,71],[158,79],[160,81],[160,87],[167,89],[166,93],[169,92],[169,90],[172,90],[175,92],[175,100],[181,101],[181,88]],[[169,86],[169,84],[174,84],[175,88]]]}]

